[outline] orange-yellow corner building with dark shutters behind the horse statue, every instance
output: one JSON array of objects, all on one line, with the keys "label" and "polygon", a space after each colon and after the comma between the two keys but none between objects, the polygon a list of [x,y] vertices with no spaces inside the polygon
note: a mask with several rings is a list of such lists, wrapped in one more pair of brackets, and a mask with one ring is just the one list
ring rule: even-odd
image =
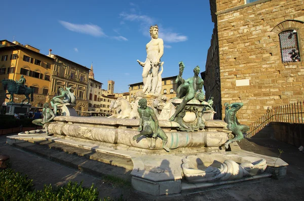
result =
[{"label": "orange-yellow corner building with dark shutters behind the horse statue", "polygon": [[[9,78],[19,80],[23,75],[26,79],[25,85],[34,89],[33,106],[42,107],[48,99],[50,92],[51,72],[54,59],[40,53],[29,45],[21,45],[14,41],[0,41],[0,80]],[[24,95],[14,95],[14,102],[20,103],[25,99]],[[0,84],[0,101],[5,100],[5,92]]]}]

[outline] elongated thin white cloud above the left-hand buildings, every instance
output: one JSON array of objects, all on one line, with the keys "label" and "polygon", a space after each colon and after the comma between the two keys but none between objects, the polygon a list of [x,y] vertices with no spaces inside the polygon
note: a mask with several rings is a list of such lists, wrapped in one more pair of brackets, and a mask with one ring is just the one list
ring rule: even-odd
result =
[{"label": "elongated thin white cloud above the left-hand buildings", "polygon": [[72,24],[59,20],[59,23],[70,31],[85,33],[93,36],[106,36],[102,29],[95,24]]}]

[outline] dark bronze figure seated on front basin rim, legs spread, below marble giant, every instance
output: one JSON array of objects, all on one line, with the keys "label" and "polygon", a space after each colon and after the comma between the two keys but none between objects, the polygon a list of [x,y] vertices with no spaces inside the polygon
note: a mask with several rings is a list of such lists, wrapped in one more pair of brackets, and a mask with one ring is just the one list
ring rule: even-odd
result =
[{"label": "dark bronze figure seated on front basin rim, legs spread, below marble giant", "polygon": [[168,137],[163,129],[159,126],[158,119],[154,110],[150,107],[147,107],[147,100],[142,98],[138,101],[138,113],[140,116],[139,120],[139,128],[138,131],[140,132],[138,135],[133,137],[133,140],[137,140],[140,136],[147,136],[157,138],[160,137],[163,140],[163,148],[166,151],[170,151],[167,147]]}]

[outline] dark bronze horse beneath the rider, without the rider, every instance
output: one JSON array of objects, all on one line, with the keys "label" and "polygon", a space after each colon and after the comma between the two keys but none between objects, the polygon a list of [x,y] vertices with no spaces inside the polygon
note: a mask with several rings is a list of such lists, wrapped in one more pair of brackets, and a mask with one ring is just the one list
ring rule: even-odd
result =
[{"label": "dark bronze horse beneath the rider, without the rider", "polygon": [[[14,102],[14,94],[16,94],[17,91],[17,83],[13,81],[13,79],[3,79],[2,80],[2,85],[4,87],[4,90],[8,90],[9,93],[6,93],[6,98],[10,100],[11,103]],[[11,97],[8,98],[7,95],[11,94]],[[21,101],[22,103],[27,99],[27,104],[29,103],[29,96],[30,96],[30,101],[34,100],[34,89],[31,89],[29,87],[20,87],[19,93],[18,94],[24,94],[25,99]]]}]

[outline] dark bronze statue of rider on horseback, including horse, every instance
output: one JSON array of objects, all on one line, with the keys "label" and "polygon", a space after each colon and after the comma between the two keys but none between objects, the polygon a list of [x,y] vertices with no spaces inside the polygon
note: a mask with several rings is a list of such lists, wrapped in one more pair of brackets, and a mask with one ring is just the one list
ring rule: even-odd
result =
[{"label": "dark bronze statue of rider on horseback, including horse", "polygon": [[[14,102],[14,94],[20,94],[25,95],[25,99],[21,101],[22,103],[27,99],[27,104],[29,104],[29,96],[30,101],[34,100],[34,89],[26,87],[25,86],[26,79],[21,75],[19,81],[14,81],[13,79],[3,79],[2,85],[4,87],[4,90],[7,90],[8,93],[6,93],[6,98],[10,100],[10,103]],[[7,97],[7,95],[10,94],[10,98]]]}]

